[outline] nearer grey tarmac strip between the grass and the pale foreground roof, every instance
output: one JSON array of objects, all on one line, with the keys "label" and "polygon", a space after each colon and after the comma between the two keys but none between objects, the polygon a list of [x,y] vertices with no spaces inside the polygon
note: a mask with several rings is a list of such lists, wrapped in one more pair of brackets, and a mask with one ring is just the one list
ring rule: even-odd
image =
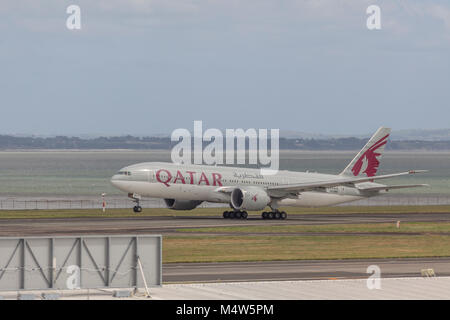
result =
[{"label": "nearer grey tarmac strip between the grass and the pale foreground roof", "polygon": [[436,276],[450,276],[450,258],[314,260],[165,264],[163,282],[367,279],[371,265],[380,268],[382,278],[420,277],[430,268]]}]

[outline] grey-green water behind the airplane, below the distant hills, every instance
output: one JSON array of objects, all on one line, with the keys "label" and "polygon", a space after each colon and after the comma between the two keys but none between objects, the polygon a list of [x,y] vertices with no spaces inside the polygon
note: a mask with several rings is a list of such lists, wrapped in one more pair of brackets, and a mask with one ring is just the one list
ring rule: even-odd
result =
[{"label": "grey-green water behind the airplane, below the distant hills", "polygon": [[[280,167],[295,171],[339,173],[355,152],[282,151]],[[2,196],[123,195],[109,184],[120,168],[151,161],[170,161],[168,151],[21,151],[0,152]],[[429,169],[413,177],[385,180],[389,184],[428,183],[431,188],[401,193],[450,194],[450,152],[386,152],[381,173]]]}]

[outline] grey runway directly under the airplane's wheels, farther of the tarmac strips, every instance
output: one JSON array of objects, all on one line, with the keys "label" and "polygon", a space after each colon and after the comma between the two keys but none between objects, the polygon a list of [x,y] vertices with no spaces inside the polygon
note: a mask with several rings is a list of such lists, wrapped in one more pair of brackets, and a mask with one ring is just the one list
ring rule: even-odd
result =
[{"label": "grey runway directly under the airplane's wheels, farther of the tarmac strips", "polygon": [[[52,218],[0,219],[0,236],[44,236],[73,234],[174,234],[185,228],[226,226],[321,225],[348,223],[450,222],[450,213],[401,214],[302,214],[287,220],[262,220],[250,216],[248,220],[229,220],[220,216],[187,217],[159,216],[133,218]],[[246,235],[240,233],[239,235]],[[250,234],[249,234],[250,235]],[[292,235],[292,234],[291,234]]]}]

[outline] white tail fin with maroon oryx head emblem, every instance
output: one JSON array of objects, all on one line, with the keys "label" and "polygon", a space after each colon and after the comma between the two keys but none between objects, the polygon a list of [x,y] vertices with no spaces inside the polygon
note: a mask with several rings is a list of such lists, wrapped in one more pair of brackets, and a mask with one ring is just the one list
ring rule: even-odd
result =
[{"label": "white tail fin with maroon oryx head emblem", "polygon": [[381,127],[366,143],[364,148],[356,155],[350,164],[340,174],[344,176],[355,177],[373,177],[376,175],[380,165],[381,155],[386,146],[388,137],[391,133],[390,128]]}]

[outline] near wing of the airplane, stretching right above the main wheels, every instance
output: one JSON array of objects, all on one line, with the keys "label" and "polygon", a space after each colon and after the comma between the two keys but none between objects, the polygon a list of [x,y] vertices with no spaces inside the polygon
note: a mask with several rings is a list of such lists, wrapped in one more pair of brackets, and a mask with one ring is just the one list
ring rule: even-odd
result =
[{"label": "near wing of the airplane, stretching right above the main wheels", "polygon": [[311,190],[318,189],[318,188],[329,188],[329,187],[345,186],[345,185],[354,186],[354,184],[356,184],[356,183],[388,179],[388,178],[405,176],[405,175],[410,175],[410,174],[415,174],[415,173],[427,172],[427,171],[428,170],[410,170],[407,172],[392,173],[392,174],[385,174],[385,175],[380,175],[380,176],[364,177],[364,178],[344,178],[343,177],[343,178],[325,180],[325,181],[273,186],[273,187],[268,187],[267,190],[269,192],[273,191],[273,192],[300,193],[302,191],[311,191]]}]

